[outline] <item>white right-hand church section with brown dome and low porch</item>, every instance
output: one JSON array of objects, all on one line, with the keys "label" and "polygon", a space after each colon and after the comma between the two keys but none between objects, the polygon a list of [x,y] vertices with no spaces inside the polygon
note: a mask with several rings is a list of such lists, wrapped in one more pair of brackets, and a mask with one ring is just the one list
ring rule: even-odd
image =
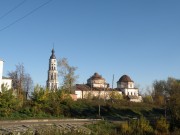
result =
[{"label": "white right-hand church section with brown dome and low porch", "polygon": [[134,81],[128,75],[123,75],[117,82],[117,89],[122,91],[123,95],[127,96],[130,101],[141,102],[142,97],[139,96],[139,89],[135,88]]}]

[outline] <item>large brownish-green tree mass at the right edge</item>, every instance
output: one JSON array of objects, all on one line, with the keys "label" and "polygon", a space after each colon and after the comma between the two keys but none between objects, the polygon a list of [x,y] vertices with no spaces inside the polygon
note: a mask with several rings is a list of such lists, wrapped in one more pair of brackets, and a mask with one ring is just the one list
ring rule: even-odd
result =
[{"label": "large brownish-green tree mass at the right edge", "polygon": [[180,128],[180,80],[168,78],[167,80],[155,81],[154,100],[163,103],[166,112],[168,111],[171,120],[171,129]]}]

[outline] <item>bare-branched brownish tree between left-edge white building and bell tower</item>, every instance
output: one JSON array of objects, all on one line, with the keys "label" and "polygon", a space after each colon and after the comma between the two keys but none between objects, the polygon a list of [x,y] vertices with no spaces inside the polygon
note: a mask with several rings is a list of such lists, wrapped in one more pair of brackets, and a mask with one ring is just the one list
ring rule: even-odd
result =
[{"label": "bare-branched brownish tree between left-edge white building and bell tower", "polygon": [[17,90],[17,95],[20,97],[26,97],[28,92],[32,89],[33,81],[30,74],[25,72],[23,64],[16,65],[15,71],[8,73],[8,76],[12,78],[12,87]]}]

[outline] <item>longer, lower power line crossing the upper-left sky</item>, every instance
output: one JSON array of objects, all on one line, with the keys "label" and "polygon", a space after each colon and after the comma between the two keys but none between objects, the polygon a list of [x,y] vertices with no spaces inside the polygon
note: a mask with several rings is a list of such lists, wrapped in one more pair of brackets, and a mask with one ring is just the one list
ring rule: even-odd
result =
[{"label": "longer, lower power line crossing the upper-left sky", "polygon": [[36,12],[37,10],[39,10],[40,8],[44,7],[45,5],[49,4],[51,1],[53,0],[48,0],[47,2],[41,4],[40,6],[38,6],[37,8],[33,9],[32,11],[30,11],[29,13],[27,13],[26,15],[20,17],[19,19],[15,20],[14,22],[8,24],[7,26],[3,27],[0,29],[0,32],[11,27],[12,25],[16,24],[17,22],[23,20],[24,18],[28,17],[29,15],[33,14],[34,12]]}]

